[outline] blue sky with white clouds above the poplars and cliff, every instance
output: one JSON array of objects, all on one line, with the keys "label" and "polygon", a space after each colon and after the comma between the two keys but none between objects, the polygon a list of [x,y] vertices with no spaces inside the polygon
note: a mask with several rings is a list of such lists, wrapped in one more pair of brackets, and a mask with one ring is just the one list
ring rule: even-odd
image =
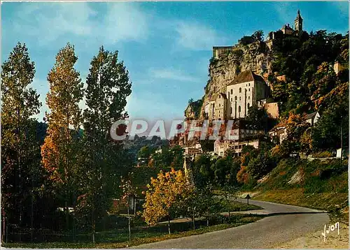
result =
[{"label": "blue sky with white clouds above the poplars and cliff", "polygon": [[46,77],[59,49],[75,45],[76,69],[85,81],[92,57],[104,45],[118,50],[129,70],[132,119],[179,119],[188,100],[204,94],[212,46],[292,25],[298,8],[307,31],[349,30],[348,2],[5,2],[1,63],[18,41],[27,44],[42,121]]}]

